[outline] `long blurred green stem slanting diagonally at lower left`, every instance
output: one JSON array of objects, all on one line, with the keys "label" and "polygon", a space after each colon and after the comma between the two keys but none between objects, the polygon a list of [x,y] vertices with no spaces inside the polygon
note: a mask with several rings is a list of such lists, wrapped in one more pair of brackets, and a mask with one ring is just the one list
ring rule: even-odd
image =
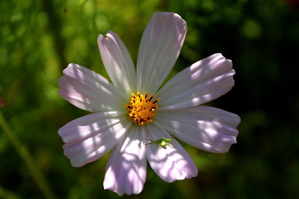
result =
[{"label": "long blurred green stem slanting diagonally at lower left", "polygon": [[2,126],[2,128],[4,130],[4,133],[7,135],[9,140],[12,142],[16,151],[19,153],[21,158],[24,160],[26,166],[28,167],[31,177],[35,180],[37,186],[42,191],[42,193],[45,195],[45,197],[49,198],[49,199],[56,198],[54,193],[50,189],[50,186],[46,182],[45,177],[42,175],[42,173],[36,167],[34,160],[31,157],[31,155],[29,154],[28,150],[26,149],[26,147],[24,145],[21,144],[19,139],[16,137],[16,135],[10,129],[9,125],[7,124],[4,117],[2,116],[1,111],[0,111],[0,125]]}]

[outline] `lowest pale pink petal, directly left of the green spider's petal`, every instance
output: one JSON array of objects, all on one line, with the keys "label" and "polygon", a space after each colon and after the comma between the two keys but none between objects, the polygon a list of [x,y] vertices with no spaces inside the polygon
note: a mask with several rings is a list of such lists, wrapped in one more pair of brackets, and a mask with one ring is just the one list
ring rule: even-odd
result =
[{"label": "lowest pale pink petal, directly left of the green spider's petal", "polygon": [[118,195],[139,194],[144,186],[147,169],[145,149],[141,146],[142,135],[139,126],[133,126],[121,142],[113,147],[110,154],[104,189]]}]

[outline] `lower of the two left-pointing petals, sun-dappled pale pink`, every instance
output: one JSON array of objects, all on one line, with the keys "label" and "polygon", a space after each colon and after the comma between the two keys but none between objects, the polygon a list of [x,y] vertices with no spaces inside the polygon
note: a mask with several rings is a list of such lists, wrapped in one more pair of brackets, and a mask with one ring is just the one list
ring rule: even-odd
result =
[{"label": "lower of the two left-pointing petals, sun-dappled pale pink", "polygon": [[67,123],[58,134],[65,142],[65,156],[72,166],[79,167],[106,154],[131,126],[119,112],[94,113]]}]

